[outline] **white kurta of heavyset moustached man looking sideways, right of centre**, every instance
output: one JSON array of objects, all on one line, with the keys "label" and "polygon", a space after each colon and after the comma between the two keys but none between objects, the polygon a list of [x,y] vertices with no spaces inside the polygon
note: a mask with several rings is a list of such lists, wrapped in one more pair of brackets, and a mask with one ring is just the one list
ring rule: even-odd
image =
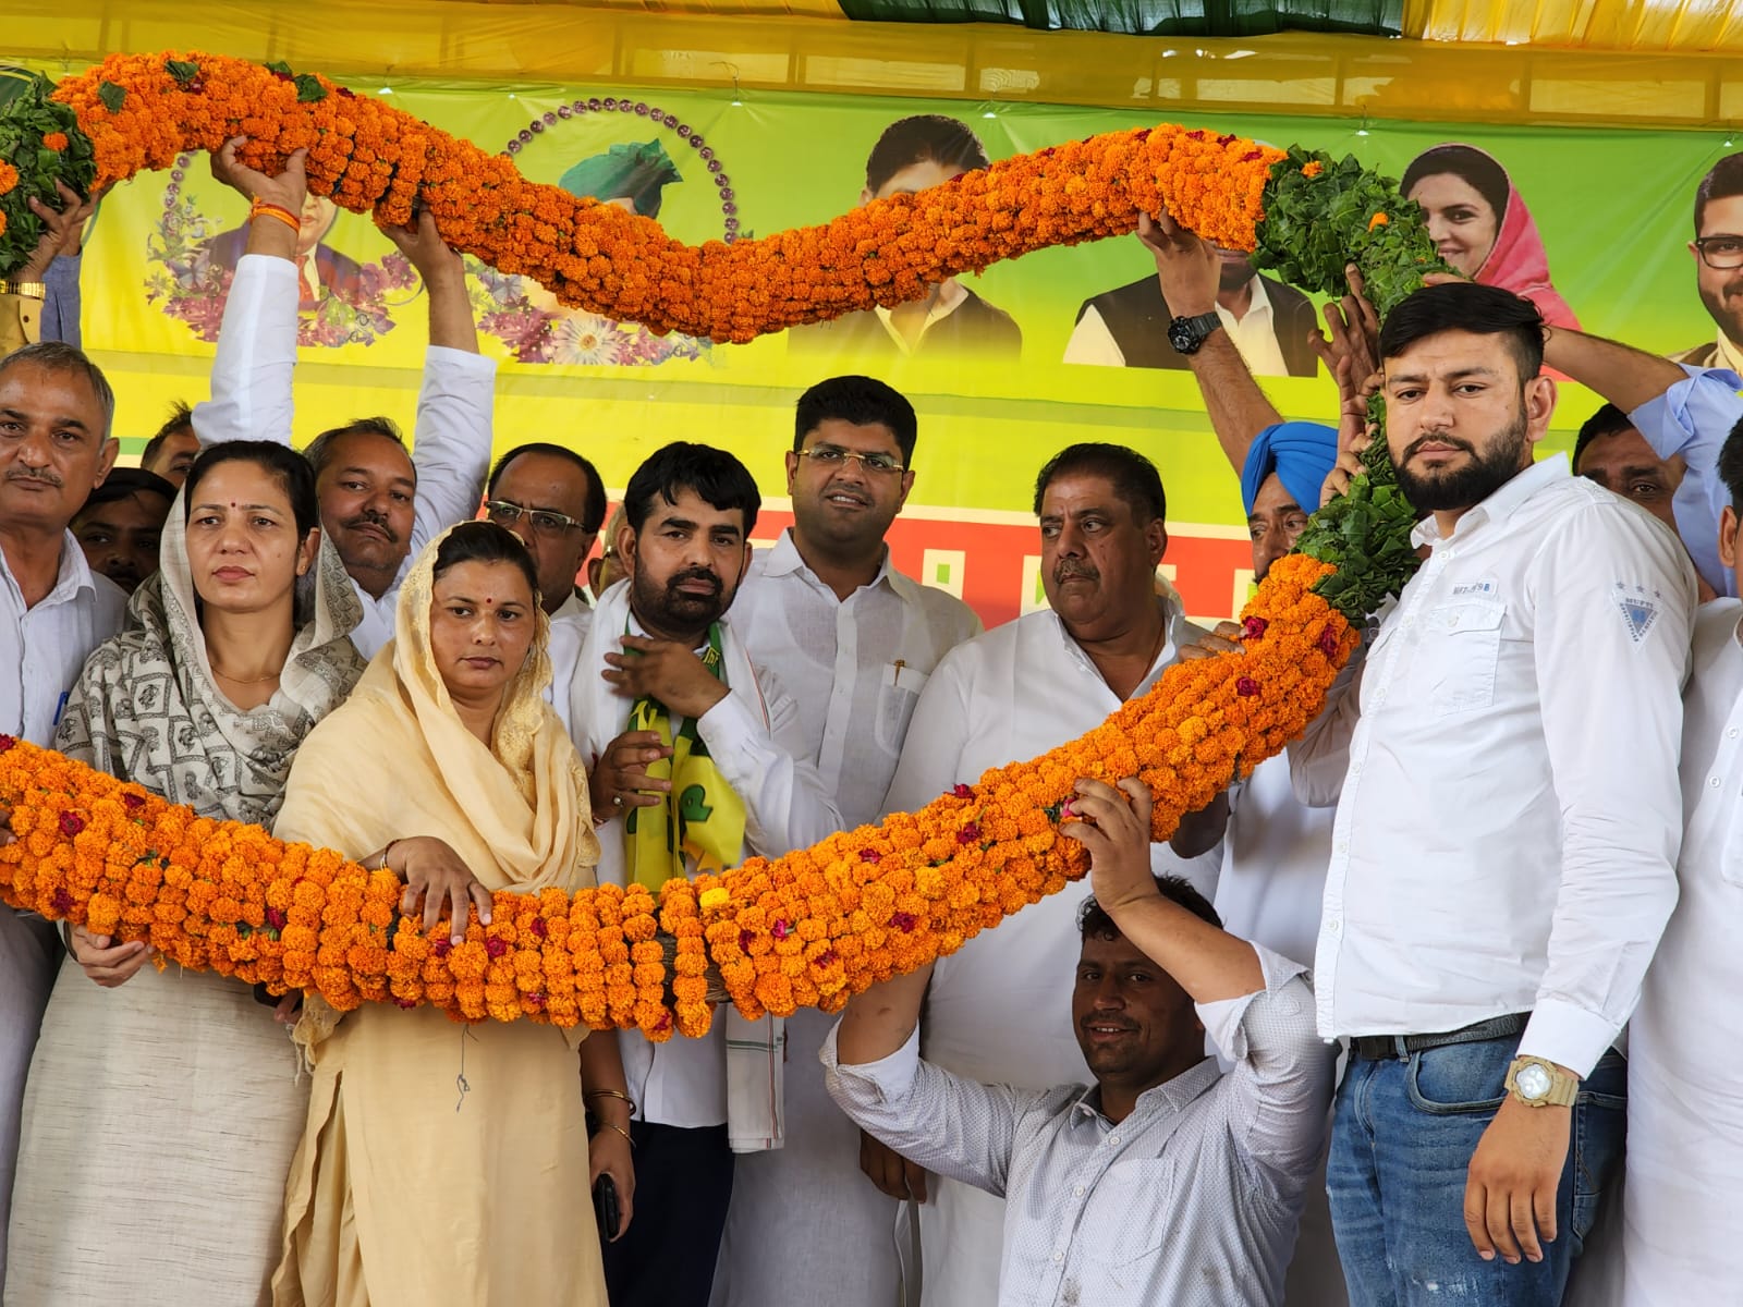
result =
[{"label": "white kurta of heavyset moustached man looking sideways, right of centre", "polygon": [[[1157,599],[1164,603],[1164,599]],[[1150,688],[1201,633],[1168,606],[1168,640],[1138,687]],[[1089,657],[1053,610],[1030,613],[959,645],[933,673],[908,728],[885,805],[912,812],[988,767],[1034,758],[1119,708]],[[1152,845],[1157,871],[1215,892],[1222,849],[1185,863]],[[1084,1079],[1072,1033],[1072,976],[1081,950],[1084,887],[1032,903],[995,931],[939,960],[920,1025],[920,1056],[957,1075],[1020,1089]],[[922,1307],[994,1307],[1004,1201],[934,1180],[920,1208]]]}]

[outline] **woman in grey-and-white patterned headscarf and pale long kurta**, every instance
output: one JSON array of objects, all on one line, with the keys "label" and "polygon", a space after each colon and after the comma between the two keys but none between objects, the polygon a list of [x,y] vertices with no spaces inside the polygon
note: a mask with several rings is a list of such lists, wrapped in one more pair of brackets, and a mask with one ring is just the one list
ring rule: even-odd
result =
[{"label": "woman in grey-and-white patterned headscarf and pale long kurta", "polygon": [[[356,591],[317,538],[300,455],[206,451],[164,523],[162,570],[132,596],[134,629],[85,662],[56,748],[202,817],[270,823],[298,742],[364,666]],[[5,1302],[265,1302],[309,1100],[289,1032],[241,981],[73,934],[91,969],[63,964],[31,1060]]]}]

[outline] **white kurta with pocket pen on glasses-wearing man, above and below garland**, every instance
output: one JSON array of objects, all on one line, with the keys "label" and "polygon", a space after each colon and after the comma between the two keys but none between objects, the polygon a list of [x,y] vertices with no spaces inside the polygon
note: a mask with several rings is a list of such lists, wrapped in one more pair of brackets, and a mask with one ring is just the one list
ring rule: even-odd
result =
[{"label": "white kurta with pocket pen on glasses-wearing man, above and below garland", "polygon": [[[797,732],[847,826],[877,821],[929,673],[980,633],[966,603],[887,559],[838,599],[791,530],[756,554],[730,620],[751,662],[793,695]],[[817,1053],[835,1021],[816,1009],[786,1019],[786,1143],[737,1161],[715,1307],[767,1307],[795,1284],[830,1307],[896,1304],[898,1204],[859,1171],[859,1128],[823,1086]]]}]

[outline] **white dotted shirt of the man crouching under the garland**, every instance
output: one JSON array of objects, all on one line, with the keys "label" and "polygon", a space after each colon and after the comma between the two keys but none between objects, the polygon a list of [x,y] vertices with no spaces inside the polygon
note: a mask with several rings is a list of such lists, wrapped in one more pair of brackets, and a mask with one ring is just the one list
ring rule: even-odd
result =
[{"label": "white dotted shirt of the man crouching under the garland", "polygon": [[1098,1089],[981,1084],[920,1061],[913,1037],[842,1067],[831,1033],[830,1093],[905,1157],[1006,1197],[999,1307],[1278,1304],[1332,1054],[1302,967],[1257,951],[1264,990],[1197,1007],[1232,1070],[1206,1058],[1117,1124]]}]

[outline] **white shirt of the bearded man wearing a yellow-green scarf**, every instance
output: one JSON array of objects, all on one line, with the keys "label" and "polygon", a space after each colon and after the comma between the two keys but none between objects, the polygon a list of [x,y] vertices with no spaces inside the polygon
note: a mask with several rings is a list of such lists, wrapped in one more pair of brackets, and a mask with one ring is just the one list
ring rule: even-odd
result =
[{"label": "white shirt of the bearded man wearing a yellow-green scarf", "polygon": [[[570,683],[560,688],[570,697],[570,739],[589,772],[605,746],[629,727],[633,701],[615,694],[601,676],[608,666],[605,655],[622,652],[626,627],[641,633],[640,622],[631,622],[629,582],[621,580],[600,596]],[[751,669],[727,620],[720,624],[720,645],[727,697],[702,713],[695,728],[722,779],[744,802],[746,850],[779,857],[828,838],[842,828],[842,819],[816,769],[804,760],[798,708],[772,676]],[[682,727],[683,718],[675,716],[673,732]],[[626,880],[622,816],[600,826],[598,878],[614,885]],[[736,1019],[730,1006],[718,1007],[704,1039],[675,1037],[664,1044],[624,1032],[624,1075],[636,1115],[664,1126],[732,1126],[727,1026]]]}]

